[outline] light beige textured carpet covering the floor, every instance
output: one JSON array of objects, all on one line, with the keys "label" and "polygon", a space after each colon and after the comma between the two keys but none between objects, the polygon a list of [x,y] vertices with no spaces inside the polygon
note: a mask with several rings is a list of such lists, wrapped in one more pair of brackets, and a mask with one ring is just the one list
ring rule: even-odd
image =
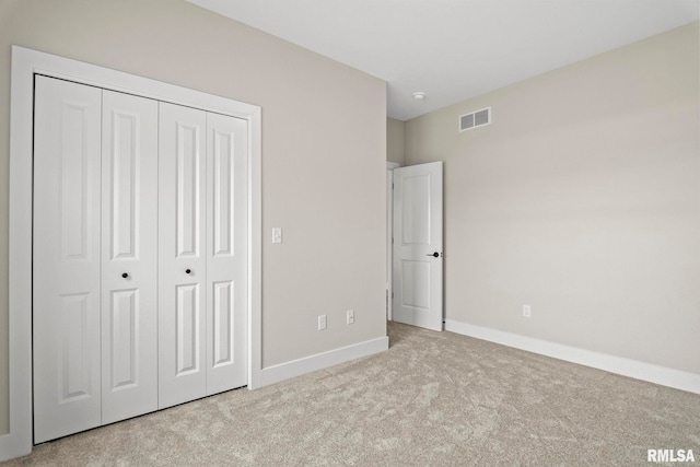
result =
[{"label": "light beige textured carpet covering the floor", "polygon": [[[649,466],[693,450],[700,395],[452,332],[35,446],[11,466]],[[696,355],[697,357],[697,355]]]}]

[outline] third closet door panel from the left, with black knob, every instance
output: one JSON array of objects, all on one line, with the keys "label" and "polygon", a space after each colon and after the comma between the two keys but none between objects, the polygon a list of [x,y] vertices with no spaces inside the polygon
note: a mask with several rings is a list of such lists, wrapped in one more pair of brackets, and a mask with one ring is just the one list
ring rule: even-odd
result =
[{"label": "third closet door panel from the left, with black knob", "polygon": [[203,110],[160,104],[159,408],[207,393],[206,126]]}]

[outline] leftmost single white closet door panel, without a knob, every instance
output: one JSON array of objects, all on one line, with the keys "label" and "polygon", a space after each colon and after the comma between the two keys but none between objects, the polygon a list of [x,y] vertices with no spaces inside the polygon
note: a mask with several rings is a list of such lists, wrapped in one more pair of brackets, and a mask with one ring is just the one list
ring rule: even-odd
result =
[{"label": "leftmost single white closet door panel, without a knob", "polygon": [[37,77],[34,121],[34,441],[100,425],[96,87]]}]

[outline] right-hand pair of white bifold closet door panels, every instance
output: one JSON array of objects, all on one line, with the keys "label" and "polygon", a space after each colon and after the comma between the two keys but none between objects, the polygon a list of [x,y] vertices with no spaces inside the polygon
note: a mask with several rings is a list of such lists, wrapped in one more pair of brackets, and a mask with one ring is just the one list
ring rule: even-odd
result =
[{"label": "right-hand pair of white bifold closet door panels", "polygon": [[247,382],[247,121],[161,103],[160,408]]}]

